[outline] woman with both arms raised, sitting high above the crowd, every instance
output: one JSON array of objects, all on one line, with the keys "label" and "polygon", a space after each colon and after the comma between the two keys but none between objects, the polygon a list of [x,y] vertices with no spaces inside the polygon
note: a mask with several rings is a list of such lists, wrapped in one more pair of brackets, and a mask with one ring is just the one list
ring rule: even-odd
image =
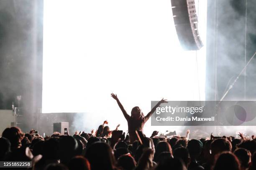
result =
[{"label": "woman with both arms raised, sitting high above the crowd", "polygon": [[133,143],[135,140],[138,140],[135,131],[138,130],[138,131],[143,132],[143,127],[144,127],[145,123],[148,121],[149,117],[156,111],[156,108],[159,107],[161,105],[161,103],[167,103],[167,101],[163,98],[155,105],[155,107],[152,108],[152,110],[150,112],[148,112],[148,114],[146,116],[144,116],[143,112],[141,112],[140,107],[135,106],[131,110],[131,116],[130,116],[127,114],[127,112],[123,108],[123,105],[119,101],[117,95],[112,93],[111,97],[113,97],[117,101],[118,106],[122,110],[123,115],[128,122],[128,132],[129,132],[130,140],[131,140],[130,143]]}]

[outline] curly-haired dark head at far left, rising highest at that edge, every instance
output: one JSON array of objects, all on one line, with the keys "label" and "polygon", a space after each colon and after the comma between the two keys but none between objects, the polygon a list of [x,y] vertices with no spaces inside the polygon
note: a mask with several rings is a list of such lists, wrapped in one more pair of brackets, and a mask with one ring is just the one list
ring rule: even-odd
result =
[{"label": "curly-haired dark head at far left, rising highest at that edge", "polygon": [[18,127],[6,128],[2,137],[7,138],[11,144],[11,150],[20,148],[24,133]]}]

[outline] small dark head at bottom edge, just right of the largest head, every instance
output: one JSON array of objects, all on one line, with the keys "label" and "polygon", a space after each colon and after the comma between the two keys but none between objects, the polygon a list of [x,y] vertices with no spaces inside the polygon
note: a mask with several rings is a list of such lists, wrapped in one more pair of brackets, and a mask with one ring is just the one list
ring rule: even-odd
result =
[{"label": "small dark head at bottom edge, just right of the largest head", "polygon": [[136,167],[136,162],[131,155],[122,155],[118,158],[118,167],[123,170],[133,170]]}]

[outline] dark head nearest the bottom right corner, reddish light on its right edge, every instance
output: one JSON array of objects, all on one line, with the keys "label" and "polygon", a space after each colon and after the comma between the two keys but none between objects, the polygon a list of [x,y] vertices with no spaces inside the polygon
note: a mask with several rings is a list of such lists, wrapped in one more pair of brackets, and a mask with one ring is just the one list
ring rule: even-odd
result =
[{"label": "dark head nearest the bottom right corner, reddish light on its right edge", "polygon": [[244,148],[238,148],[235,150],[234,154],[238,158],[241,164],[241,168],[246,169],[249,168],[249,165],[251,163],[251,152],[244,149]]}]

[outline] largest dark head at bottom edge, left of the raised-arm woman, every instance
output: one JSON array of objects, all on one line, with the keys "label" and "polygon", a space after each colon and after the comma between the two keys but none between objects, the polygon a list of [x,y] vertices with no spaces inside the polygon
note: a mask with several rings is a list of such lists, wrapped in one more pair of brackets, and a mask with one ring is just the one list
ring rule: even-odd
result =
[{"label": "largest dark head at bottom edge, left of the raised-arm woman", "polygon": [[115,158],[112,149],[106,143],[93,143],[85,153],[92,170],[113,170]]}]

